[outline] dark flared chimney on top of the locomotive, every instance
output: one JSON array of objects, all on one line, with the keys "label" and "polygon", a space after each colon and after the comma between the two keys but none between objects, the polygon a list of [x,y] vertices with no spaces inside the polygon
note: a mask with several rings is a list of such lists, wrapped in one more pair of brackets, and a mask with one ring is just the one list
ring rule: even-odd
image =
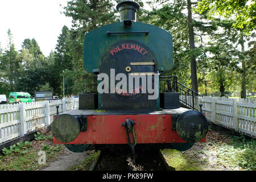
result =
[{"label": "dark flared chimney on top of the locomotive", "polygon": [[120,22],[123,20],[136,21],[136,14],[139,10],[139,4],[134,1],[122,1],[117,4],[117,11],[120,13]]}]

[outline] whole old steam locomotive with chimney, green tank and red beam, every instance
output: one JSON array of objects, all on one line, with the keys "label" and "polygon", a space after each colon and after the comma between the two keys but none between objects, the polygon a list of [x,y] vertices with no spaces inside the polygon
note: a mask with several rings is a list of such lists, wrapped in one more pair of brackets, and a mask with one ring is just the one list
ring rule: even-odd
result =
[{"label": "whole old steam locomotive with chimney, green tank and red beam", "polygon": [[113,144],[187,150],[204,142],[204,115],[180,107],[178,93],[160,98],[159,75],[174,65],[171,34],[136,22],[136,2],[120,2],[117,10],[121,22],[84,37],[84,68],[97,76],[98,93],[80,94],[78,110],[57,115],[53,143],[82,152]]}]

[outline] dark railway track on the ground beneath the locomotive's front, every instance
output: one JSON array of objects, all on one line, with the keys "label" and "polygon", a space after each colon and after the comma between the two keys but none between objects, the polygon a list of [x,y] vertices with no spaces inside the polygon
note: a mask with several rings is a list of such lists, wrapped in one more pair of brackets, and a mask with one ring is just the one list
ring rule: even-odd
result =
[{"label": "dark railway track on the ground beneath the locomotive's front", "polygon": [[[129,149],[129,148],[128,148]],[[131,150],[103,150],[91,171],[169,171],[159,149],[135,150],[135,165],[131,162]]]}]

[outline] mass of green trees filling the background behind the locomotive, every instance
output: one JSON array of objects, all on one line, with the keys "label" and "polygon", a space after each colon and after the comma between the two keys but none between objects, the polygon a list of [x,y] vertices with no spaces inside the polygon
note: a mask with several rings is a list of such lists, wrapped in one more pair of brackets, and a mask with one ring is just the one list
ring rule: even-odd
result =
[{"label": "mass of green trees filling the background behind the locomotive", "polygon": [[[63,13],[72,18],[72,28],[63,26],[57,38],[56,51],[47,57],[34,38],[24,39],[22,49],[16,51],[9,30],[7,48],[0,47],[0,93],[8,96],[15,91],[33,95],[34,90],[53,90],[53,94],[62,96],[63,77],[65,94],[80,94],[85,89],[97,92],[96,76],[83,68],[84,35],[105,24],[118,22],[114,2],[120,1],[68,1],[67,6],[63,6]],[[176,75],[179,82],[191,88],[193,57],[196,59],[201,94],[240,92],[243,90],[240,85],[244,83],[247,90],[255,92],[255,34],[245,35],[255,28],[255,1],[192,1],[192,9],[196,11],[192,11],[190,26],[188,1],[147,2],[152,10],[143,9],[145,2],[136,2],[141,6],[137,13],[138,22],[164,28],[172,35],[175,65],[170,73],[164,75]],[[215,13],[228,19],[215,18]],[[237,18],[232,20],[230,15]],[[189,27],[193,27],[194,39],[189,38]],[[189,39],[195,43],[195,48],[191,48]],[[246,42],[249,49],[240,48]],[[245,63],[242,68],[241,63]],[[245,76],[246,79],[242,80]]]}]

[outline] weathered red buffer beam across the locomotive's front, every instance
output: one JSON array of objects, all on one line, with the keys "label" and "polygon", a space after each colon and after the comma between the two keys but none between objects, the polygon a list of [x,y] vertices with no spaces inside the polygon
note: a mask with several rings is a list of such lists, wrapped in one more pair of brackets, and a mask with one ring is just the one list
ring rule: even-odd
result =
[{"label": "weathered red buffer beam across the locomotive's front", "polygon": [[[88,115],[87,130],[67,144],[125,144],[126,118],[135,121],[137,143],[184,143],[176,131],[172,130],[171,114],[163,115]],[[130,134],[133,143],[133,135]],[[205,142],[205,139],[201,142]],[[53,138],[53,143],[61,143]]]}]

